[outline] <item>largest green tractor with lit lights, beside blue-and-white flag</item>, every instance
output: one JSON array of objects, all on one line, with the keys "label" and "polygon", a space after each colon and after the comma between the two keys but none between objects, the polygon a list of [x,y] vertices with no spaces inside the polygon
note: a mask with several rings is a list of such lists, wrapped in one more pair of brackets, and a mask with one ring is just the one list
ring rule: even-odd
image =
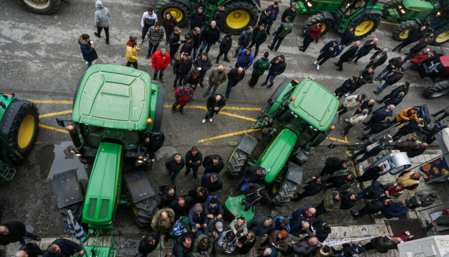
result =
[{"label": "largest green tractor with lit lights, beside blue-and-white flag", "polygon": [[[93,161],[85,200],[75,170],[55,174],[53,188],[63,216],[82,215],[88,234],[113,233],[112,220],[119,204],[131,206],[139,226],[149,226],[158,210],[147,176],[150,159],[141,133],[160,130],[165,86],[150,75],[129,67],[99,64],[87,69],[75,90],[71,124],[65,126],[83,163]],[[127,190],[121,190],[122,182]],[[88,236],[85,237],[87,240]],[[96,241],[96,240],[95,240]],[[111,247],[87,246],[95,256],[114,256]]]}]

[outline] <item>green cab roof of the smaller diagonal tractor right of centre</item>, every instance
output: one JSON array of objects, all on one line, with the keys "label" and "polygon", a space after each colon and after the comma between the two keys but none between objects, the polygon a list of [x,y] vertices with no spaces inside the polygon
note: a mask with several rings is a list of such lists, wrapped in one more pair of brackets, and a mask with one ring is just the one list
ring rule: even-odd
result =
[{"label": "green cab roof of the smaller diagonal tractor right of centre", "polygon": [[289,108],[298,117],[305,120],[319,131],[326,131],[331,126],[338,109],[338,100],[326,88],[313,81],[303,79],[296,86]]}]

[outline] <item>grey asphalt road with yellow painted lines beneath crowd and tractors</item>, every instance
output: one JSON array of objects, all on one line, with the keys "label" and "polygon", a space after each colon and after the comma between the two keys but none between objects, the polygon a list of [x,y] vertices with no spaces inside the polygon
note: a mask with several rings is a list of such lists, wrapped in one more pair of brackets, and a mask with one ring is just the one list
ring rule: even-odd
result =
[{"label": "grey asphalt road with yellow painted lines beneath crowd and tractors", "polygon": [[[15,92],[18,98],[37,102],[41,114],[37,142],[32,154],[23,165],[18,167],[13,180],[3,182],[0,186],[1,220],[21,220],[27,224],[29,231],[34,230],[39,235],[61,235],[65,227],[53,194],[52,174],[78,168],[79,177],[87,178],[83,166],[73,155],[67,153],[67,147],[70,146],[69,135],[55,122],[55,117],[70,119],[75,85],[87,68],[79,50],[78,37],[83,33],[91,35],[100,57],[95,63],[125,65],[125,43],[130,35],[140,37],[142,13],[148,6],[154,7],[156,1],[103,1],[111,11],[109,45],[105,43],[104,35],[102,38],[93,35],[96,31],[94,29],[94,3],[95,0],[71,0],[70,4],[63,2],[58,13],[51,16],[29,13],[14,1],[0,5],[0,91]],[[268,4],[270,2],[262,1],[263,7]],[[286,4],[288,4],[287,0],[281,1],[281,11],[287,7]],[[166,70],[164,80],[167,85],[167,95],[161,129],[166,136],[165,146],[157,153],[153,170],[148,172],[155,190],[161,184],[170,183],[163,162],[174,152],[185,154],[190,147],[197,146],[203,156],[220,154],[227,161],[240,135],[243,131],[251,129],[258,110],[284,77],[292,79],[312,77],[333,92],[346,78],[358,75],[365,67],[369,56],[362,58],[358,66],[345,64],[343,72],[336,71],[332,59],[317,71],[313,62],[318,56],[319,49],[329,40],[339,38],[339,35],[334,32],[328,33],[318,44],[312,43],[306,53],[299,52],[298,46],[302,44],[303,38],[300,27],[305,18],[306,16],[297,16],[293,33],[283,41],[276,53],[270,52],[270,58],[284,54],[287,62],[285,73],[275,79],[276,85],[270,89],[259,85],[249,88],[247,86],[250,78],[249,72],[245,79],[232,89],[230,100],[226,103],[226,107],[230,107],[230,109],[215,116],[212,123],[201,123],[205,114],[205,110],[202,108],[206,103],[206,98],[201,97],[205,89],[201,88],[196,91],[197,103],[190,103],[185,109],[184,115],[179,112],[171,113],[169,107],[174,102],[174,94],[171,90],[173,71],[171,66]],[[273,27],[278,23],[279,20]],[[382,23],[368,38],[377,37],[380,47],[392,49],[398,44],[391,38],[393,28],[394,25]],[[181,30],[184,35],[188,28],[181,28]],[[267,44],[271,43],[272,39],[273,36],[268,37],[260,49],[260,55],[268,50]],[[365,40],[363,39],[363,41]],[[234,46],[236,46],[236,41],[237,38],[234,37]],[[139,69],[151,74],[150,61],[145,60],[148,41],[146,40],[140,47],[143,50],[139,53]],[[443,47],[443,50],[449,52],[447,46]],[[214,60],[218,54],[217,44],[212,47],[209,54]],[[230,56],[232,55],[230,54]],[[398,54],[389,52],[388,56],[391,58]],[[233,68],[235,59],[231,57],[231,61],[230,64],[226,62],[221,64],[229,71]],[[215,62],[214,68],[216,68]],[[377,72],[380,71],[379,68]],[[263,76],[260,83],[262,83],[262,79]],[[435,111],[447,105],[449,96],[432,101],[422,97],[423,89],[431,83],[430,79],[420,79],[415,72],[408,71],[404,80],[410,81],[412,86],[405,100],[398,106],[399,110],[426,103],[431,111]],[[380,84],[378,82],[368,84],[359,89],[357,93],[367,94],[367,99],[375,98],[372,89],[376,86],[380,86]],[[218,92],[224,94],[225,85],[221,85]],[[113,111],[120,106],[111,103],[105,108]],[[343,117],[349,118],[349,115],[347,113]],[[339,145],[338,147],[332,150],[325,146],[316,147],[315,154],[309,155],[309,162],[303,166],[304,181],[309,181],[313,175],[319,173],[324,160],[329,155],[344,155],[347,145],[357,142],[355,136],[360,135],[362,131],[359,127],[353,128],[347,138],[341,136],[340,132],[340,126],[337,126],[331,134],[331,137]],[[258,135],[258,131],[250,133],[255,137]],[[323,144],[328,145],[329,143],[326,140]],[[201,174],[202,170],[200,170]],[[224,172],[221,175],[225,187],[218,195],[224,201],[238,179],[228,178]],[[85,185],[86,181],[82,181]],[[198,186],[200,181],[194,182],[192,177],[184,177],[181,173],[176,184],[178,194],[181,195],[187,193],[190,188]],[[353,188],[353,190],[359,189]],[[275,211],[287,215],[300,206],[317,205],[322,199],[323,193],[305,198],[295,204],[289,203],[282,208],[257,207],[256,213],[269,215],[271,211]],[[358,204],[358,206],[361,205],[363,205],[363,201]],[[354,223],[349,211],[341,211],[321,218],[332,224]],[[372,220],[369,217],[357,220],[357,223],[370,222]],[[126,206],[118,207],[114,224],[116,233],[130,234],[141,231],[134,225],[130,208]]]}]

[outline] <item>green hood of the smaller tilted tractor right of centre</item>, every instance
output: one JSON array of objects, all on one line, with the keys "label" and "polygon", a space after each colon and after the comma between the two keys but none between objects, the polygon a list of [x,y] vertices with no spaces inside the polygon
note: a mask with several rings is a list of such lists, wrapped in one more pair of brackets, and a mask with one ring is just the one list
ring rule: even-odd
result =
[{"label": "green hood of the smaller tilted tractor right of centre", "polygon": [[265,149],[259,159],[259,166],[265,168],[265,182],[272,182],[284,167],[298,136],[290,129],[283,129]]}]

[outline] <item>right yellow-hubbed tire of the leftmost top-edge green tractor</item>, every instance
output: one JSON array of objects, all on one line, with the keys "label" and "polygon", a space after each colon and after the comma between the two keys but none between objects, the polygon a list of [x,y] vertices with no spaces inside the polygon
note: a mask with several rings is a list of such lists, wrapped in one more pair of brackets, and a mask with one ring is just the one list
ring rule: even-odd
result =
[{"label": "right yellow-hubbed tire of the leftmost top-edge green tractor", "polygon": [[229,34],[240,34],[248,26],[256,26],[259,12],[250,0],[232,0],[225,4],[223,17],[225,24],[220,26],[220,30]]}]

